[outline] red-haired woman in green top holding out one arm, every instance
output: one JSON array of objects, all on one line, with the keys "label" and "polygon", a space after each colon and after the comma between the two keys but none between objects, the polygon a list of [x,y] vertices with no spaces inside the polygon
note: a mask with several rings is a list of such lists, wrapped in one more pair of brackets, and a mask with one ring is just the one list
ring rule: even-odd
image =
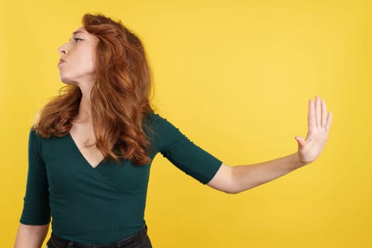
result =
[{"label": "red-haired woman in green top holding out one arm", "polygon": [[150,70],[140,40],[121,22],[86,14],[59,49],[67,85],[30,130],[25,203],[15,247],[151,247],[143,218],[150,164],[161,152],[220,191],[238,193],[317,159],[332,113],[309,102],[298,152],[230,167],[196,146],[150,106]]}]

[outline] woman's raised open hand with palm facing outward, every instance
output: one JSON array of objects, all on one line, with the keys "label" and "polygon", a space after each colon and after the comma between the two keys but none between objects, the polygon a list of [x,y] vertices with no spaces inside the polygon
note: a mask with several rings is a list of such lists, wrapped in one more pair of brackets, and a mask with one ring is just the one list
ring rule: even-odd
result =
[{"label": "woman's raised open hand with palm facing outward", "polygon": [[332,112],[327,113],[325,101],[319,96],[315,102],[309,101],[308,135],[306,139],[296,136],[298,142],[298,159],[301,165],[309,164],[319,157],[329,133],[332,123]]}]

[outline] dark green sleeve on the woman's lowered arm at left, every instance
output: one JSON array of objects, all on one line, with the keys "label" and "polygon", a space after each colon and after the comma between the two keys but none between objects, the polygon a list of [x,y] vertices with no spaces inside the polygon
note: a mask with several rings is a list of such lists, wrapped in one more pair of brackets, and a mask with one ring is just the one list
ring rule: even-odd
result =
[{"label": "dark green sleeve on the woman's lowered arm at left", "polygon": [[50,222],[47,172],[41,156],[40,136],[34,130],[30,130],[28,137],[28,176],[20,222],[25,225]]}]

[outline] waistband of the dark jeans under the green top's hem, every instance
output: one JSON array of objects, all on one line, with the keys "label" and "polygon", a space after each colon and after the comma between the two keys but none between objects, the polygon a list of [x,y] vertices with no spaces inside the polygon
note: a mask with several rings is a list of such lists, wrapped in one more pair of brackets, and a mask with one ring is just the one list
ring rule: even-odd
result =
[{"label": "waistband of the dark jeans under the green top's hem", "polygon": [[142,229],[135,233],[135,235],[127,237],[126,239],[119,240],[110,244],[81,244],[79,242],[74,242],[67,239],[62,239],[52,232],[50,239],[53,241],[62,244],[65,247],[76,247],[76,248],[114,248],[114,247],[124,247],[125,245],[132,244],[137,242],[147,235],[147,226],[145,225]]}]

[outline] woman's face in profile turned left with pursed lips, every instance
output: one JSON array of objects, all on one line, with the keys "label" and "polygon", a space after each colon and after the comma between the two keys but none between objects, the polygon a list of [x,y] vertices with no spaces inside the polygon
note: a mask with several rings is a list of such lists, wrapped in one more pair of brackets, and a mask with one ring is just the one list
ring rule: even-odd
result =
[{"label": "woman's face in profile turned left with pursed lips", "polygon": [[58,52],[61,55],[58,69],[65,84],[93,84],[96,72],[96,45],[98,38],[81,27]]}]

